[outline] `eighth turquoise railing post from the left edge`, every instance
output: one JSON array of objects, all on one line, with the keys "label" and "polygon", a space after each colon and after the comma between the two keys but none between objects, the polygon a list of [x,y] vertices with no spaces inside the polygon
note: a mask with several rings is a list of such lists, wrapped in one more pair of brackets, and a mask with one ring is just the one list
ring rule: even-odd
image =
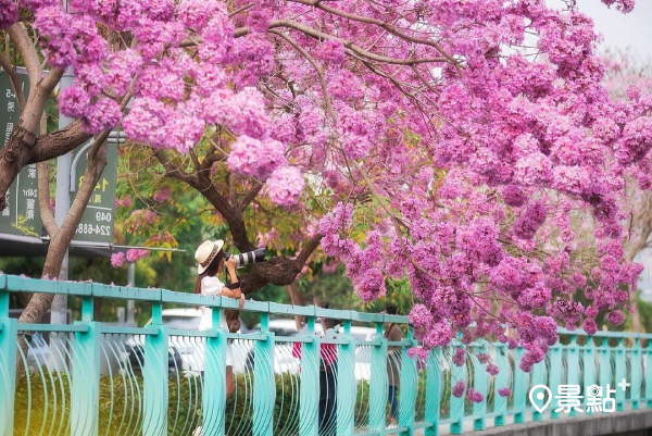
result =
[{"label": "eighth turquoise railing post from the left edge", "polygon": [[387,339],[383,337],[383,323],[376,323],[379,345],[372,346],[372,376],[369,378],[369,431],[385,434],[387,416]]}]

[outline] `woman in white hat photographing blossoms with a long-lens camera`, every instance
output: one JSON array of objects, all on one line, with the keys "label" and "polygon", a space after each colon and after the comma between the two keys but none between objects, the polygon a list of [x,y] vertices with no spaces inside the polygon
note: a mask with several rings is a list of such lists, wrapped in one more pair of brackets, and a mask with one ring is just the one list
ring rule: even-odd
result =
[{"label": "woman in white hat photographing blossoms with a long-lens camera", "polygon": [[[195,252],[195,260],[197,260],[198,266],[197,283],[195,285],[195,294],[201,294],[204,296],[220,296],[229,298],[240,299],[240,309],[244,304],[244,294],[240,291],[240,283],[236,275],[236,260],[230,258],[224,261],[224,251],[222,247],[224,241],[218,239],[215,241],[205,240],[199,246]],[[226,266],[228,271],[230,285],[225,286],[217,275],[222,273]],[[199,324],[200,331],[205,331],[212,327],[211,309],[202,308],[201,322]],[[220,327],[228,331],[226,324],[226,317],[224,311],[220,314]],[[230,357],[227,353],[226,357],[226,395],[230,395],[235,389],[234,385],[234,368],[230,362]]]}]

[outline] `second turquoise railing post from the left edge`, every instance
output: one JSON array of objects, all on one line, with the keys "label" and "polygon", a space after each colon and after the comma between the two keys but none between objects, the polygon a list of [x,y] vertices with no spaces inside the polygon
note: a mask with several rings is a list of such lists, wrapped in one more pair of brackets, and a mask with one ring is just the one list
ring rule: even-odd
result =
[{"label": "second turquoise railing post from the left edge", "polygon": [[71,382],[71,435],[95,436],[100,415],[100,323],[92,321],[93,299],[82,297],[82,321],[87,332],[75,332]]}]

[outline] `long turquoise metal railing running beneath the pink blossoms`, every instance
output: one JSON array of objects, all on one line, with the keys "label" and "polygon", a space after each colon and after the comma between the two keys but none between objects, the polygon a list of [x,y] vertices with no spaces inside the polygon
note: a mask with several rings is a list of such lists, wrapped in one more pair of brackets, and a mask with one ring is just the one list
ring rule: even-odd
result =
[{"label": "long turquoise metal railing running beneath the pink blossoms", "polygon": [[[80,320],[18,325],[9,316],[12,292],[79,298]],[[139,328],[96,322],[96,298],[149,302],[152,321]],[[463,366],[451,362],[461,342],[411,358],[408,350],[417,342],[405,316],[247,301],[243,310],[259,314],[260,331],[231,334],[179,328],[179,316],[166,316],[171,312],[164,310],[237,304],[163,289],[0,275],[0,436],[432,436],[444,425],[460,434],[563,415],[554,412],[554,399],[543,413],[534,410],[531,386],[547,385],[554,396],[559,385],[577,384],[586,403],[585,387],[613,388],[622,379],[629,387],[616,389],[618,411],[652,407],[652,371],[647,371],[652,335],[599,332],[588,337],[562,329],[546,360],[524,373],[518,370],[521,348],[488,341],[465,346]],[[221,311],[213,310],[212,316],[220,325]],[[306,320],[306,333],[275,332],[273,320],[292,316]],[[321,316],[340,320],[341,332],[315,335]],[[402,325],[405,339],[385,339],[388,323]],[[488,363],[478,359],[482,353],[500,368],[497,375],[487,373]],[[235,373],[228,395],[227,362]],[[321,369],[334,362],[335,376],[321,382]],[[400,368],[398,379],[388,365]],[[452,386],[459,381],[482,394],[482,400],[455,397]],[[390,385],[398,385],[396,422]],[[509,395],[499,395],[501,388],[509,388]],[[321,397],[331,399],[326,412],[319,410]]]}]

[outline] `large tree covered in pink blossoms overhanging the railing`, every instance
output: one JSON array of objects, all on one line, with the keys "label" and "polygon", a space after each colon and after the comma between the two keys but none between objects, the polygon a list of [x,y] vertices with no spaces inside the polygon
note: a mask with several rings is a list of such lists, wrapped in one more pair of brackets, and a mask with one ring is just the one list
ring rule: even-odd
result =
[{"label": "large tree covered in pink blossoms overhanging the railing", "polygon": [[[617,200],[627,177],[649,173],[652,97],[610,96],[592,22],[572,2],[0,4],[36,84],[0,153],[0,192],[25,164],[122,126],[209,199],[241,250],[253,248],[253,199],[296,208],[306,187],[327,194],[318,234],[297,259],[256,266],[252,287],[291,283],[321,239],[364,299],[409,276],[426,348],[496,335],[523,344],[526,370],[555,342],[556,321],[589,333],[600,312],[623,322],[623,286],[640,267],[624,258]],[[36,137],[68,66],[76,83],[59,104],[77,121]],[[227,172],[225,189],[214,171]],[[351,238],[359,225],[363,242]]]}]

